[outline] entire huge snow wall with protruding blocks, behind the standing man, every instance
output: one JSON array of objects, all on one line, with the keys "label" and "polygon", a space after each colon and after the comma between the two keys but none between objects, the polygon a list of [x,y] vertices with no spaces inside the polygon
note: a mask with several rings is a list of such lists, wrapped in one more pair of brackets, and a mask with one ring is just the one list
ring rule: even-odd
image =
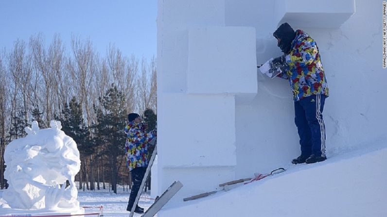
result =
[{"label": "entire huge snow wall with protruding blocks, behind the standing man", "polygon": [[273,37],[282,22],[319,47],[331,93],[323,112],[328,160],[386,138],[385,82],[372,79],[385,77],[381,7],[367,0],[158,0],[153,179],[158,194],[176,180],[184,185],[167,206],[179,209],[177,200],[220,183],[287,167],[300,154],[288,81],[256,67],[283,54]]}]

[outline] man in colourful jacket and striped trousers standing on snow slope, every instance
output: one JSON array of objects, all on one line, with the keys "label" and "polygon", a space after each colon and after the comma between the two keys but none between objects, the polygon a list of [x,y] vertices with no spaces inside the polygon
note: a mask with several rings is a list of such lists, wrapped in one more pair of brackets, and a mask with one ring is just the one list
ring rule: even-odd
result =
[{"label": "man in colourful jacket and striped trousers standing on snow slope", "polygon": [[281,24],[273,35],[284,54],[267,61],[261,71],[290,83],[301,146],[301,155],[292,163],[324,161],[327,158],[322,111],[329,91],[317,44],[302,30],[295,32],[288,23]]}]

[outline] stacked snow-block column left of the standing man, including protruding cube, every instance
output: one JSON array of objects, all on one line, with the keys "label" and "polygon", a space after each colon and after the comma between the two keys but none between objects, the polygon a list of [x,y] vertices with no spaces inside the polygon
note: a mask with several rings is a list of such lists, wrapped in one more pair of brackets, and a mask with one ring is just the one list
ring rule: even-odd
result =
[{"label": "stacked snow-block column left of the standing man, including protruding cube", "polygon": [[177,200],[235,178],[235,99],[257,93],[256,34],[225,26],[224,0],[158,7],[158,189],[179,180]]}]

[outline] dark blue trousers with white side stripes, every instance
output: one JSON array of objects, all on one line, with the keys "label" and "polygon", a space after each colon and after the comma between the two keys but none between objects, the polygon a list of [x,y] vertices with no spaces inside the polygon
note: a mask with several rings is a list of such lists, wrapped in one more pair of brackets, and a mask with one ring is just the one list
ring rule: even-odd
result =
[{"label": "dark blue trousers with white side stripes", "polygon": [[322,119],[325,95],[312,95],[294,102],[301,155],[325,156],[325,125]]}]

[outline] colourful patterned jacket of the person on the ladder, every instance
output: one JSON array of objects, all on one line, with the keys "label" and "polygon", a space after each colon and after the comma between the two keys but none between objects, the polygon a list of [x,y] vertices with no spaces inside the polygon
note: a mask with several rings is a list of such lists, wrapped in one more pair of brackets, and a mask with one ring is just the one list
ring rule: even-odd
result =
[{"label": "colourful patterned jacket of the person on the ladder", "polygon": [[131,171],[137,167],[148,166],[148,142],[155,136],[156,132],[145,133],[142,123],[131,121],[124,129],[127,137],[125,143],[126,166]]}]

